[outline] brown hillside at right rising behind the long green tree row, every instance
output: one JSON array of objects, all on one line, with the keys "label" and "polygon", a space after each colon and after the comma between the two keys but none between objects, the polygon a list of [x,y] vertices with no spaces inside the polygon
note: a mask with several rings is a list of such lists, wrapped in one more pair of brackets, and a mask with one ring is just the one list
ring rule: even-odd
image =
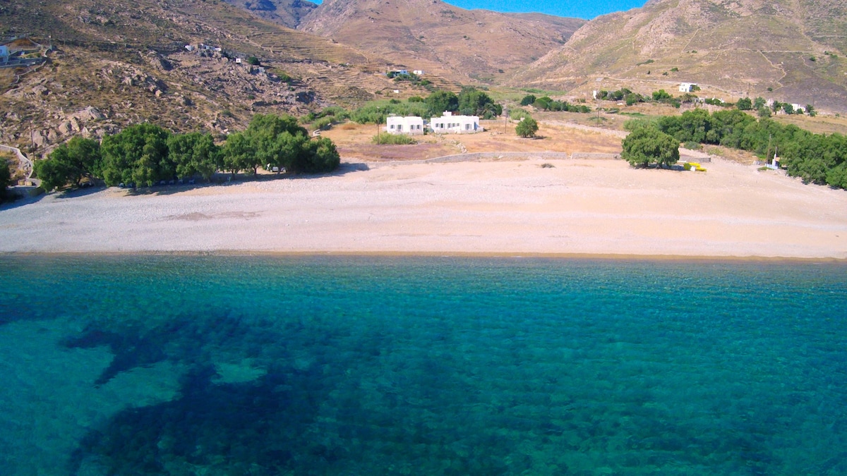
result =
[{"label": "brown hillside at right rising behind the long green tree row", "polygon": [[695,82],[727,100],[750,94],[844,111],[845,54],[840,0],[654,0],[590,21],[509,82],[582,86],[580,94],[604,82],[644,91]]}]

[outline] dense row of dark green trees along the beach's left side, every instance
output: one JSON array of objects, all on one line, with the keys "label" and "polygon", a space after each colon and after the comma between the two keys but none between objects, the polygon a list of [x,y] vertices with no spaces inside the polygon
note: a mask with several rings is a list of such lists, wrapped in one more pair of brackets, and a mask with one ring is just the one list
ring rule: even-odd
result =
[{"label": "dense row of dark green trees along the beach's left side", "polygon": [[131,125],[102,142],[74,137],[56,147],[35,171],[45,190],[101,179],[106,185],[147,185],[202,177],[217,171],[256,174],[259,167],[317,174],[338,167],[340,156],[327,138],[311,139],[291,116],[257,114],[246,130],[221,146],[209,133],[174,134],[149,123]]}]

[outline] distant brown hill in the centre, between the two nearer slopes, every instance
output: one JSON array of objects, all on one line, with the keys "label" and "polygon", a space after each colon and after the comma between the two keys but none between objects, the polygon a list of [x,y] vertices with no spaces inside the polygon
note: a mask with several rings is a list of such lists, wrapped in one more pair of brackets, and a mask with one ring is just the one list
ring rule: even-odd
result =
[{"label": "distant brown hill in the centre, between the two nearer slopes", "polygon": [[300,29],[406,69],[494,82],[567,41],[582,19],[464,10],[439,0],[325,0]]}]

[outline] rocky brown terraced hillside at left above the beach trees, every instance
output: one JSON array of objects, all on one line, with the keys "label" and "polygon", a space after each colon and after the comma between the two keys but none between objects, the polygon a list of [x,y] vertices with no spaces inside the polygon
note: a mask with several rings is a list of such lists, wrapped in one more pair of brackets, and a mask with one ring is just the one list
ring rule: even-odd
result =
[{"label": "rocky brown terraced hillside at left above the beach trees", "polygon": [[[0,8],[0,18],[6,35],[29,34],[42,44],[34,54],[47,58],[32,69],[0,70],[0,143],[35,146],[36,156],[71,136],[142,121],[225,132],[253,113],[352,106],[394,89],[419,93],[374,74],[388,66],[351,47],[217,0],[24,0]],[[201,42],[223,51],[186,51]],[[250,55],[263,69],[243,61]]]}]

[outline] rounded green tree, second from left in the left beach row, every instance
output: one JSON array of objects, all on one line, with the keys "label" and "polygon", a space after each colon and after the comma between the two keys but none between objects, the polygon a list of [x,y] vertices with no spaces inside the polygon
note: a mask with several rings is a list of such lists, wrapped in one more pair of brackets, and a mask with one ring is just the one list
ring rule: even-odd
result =
[{"label": "rounded green tree, second from left in the left beach row", "polygon": [[130,125],[114,136],[103,138],[102,179],[107,185],[135,183],[153,185],[174,177],[168,155],[170,132],[158,125]]}]

